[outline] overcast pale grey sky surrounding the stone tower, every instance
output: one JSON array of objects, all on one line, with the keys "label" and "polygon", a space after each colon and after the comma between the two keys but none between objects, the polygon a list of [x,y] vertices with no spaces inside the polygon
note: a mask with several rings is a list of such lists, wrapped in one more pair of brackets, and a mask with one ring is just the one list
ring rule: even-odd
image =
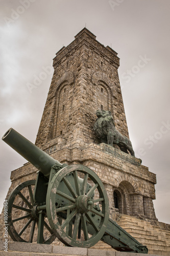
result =
[{"label": "overcast pale grey sky surrounding the stone tower", "polygon": [[[85,25],[118,53],[129,135],[157,175],[156,216],[170,223],[169,0],[1,0],[0,135],[13,127],[35,142],[57,51]],[[35,77],[39,82],[35,84]],[[30,90],[29,85],[34,88]],[[10,173],[27,161],[0,141],[0,207]]]}]

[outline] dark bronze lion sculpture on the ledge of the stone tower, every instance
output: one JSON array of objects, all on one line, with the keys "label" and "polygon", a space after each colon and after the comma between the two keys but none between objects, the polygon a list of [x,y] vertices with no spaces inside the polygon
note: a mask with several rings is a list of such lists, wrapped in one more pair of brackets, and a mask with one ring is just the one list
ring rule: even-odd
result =
[{"label": "dark bronze lion sculpture on the ledge of the stone tower", "polygon": [[116,144],[119,146],[121,151],[127,154],[129,151],[132,156],[135,156],[131,141],[116,130],[111,112],[97,110],[96,116],[98,118],[94,123],[93,129],[101,141],[103,143],[108,143],[111,146]]}]

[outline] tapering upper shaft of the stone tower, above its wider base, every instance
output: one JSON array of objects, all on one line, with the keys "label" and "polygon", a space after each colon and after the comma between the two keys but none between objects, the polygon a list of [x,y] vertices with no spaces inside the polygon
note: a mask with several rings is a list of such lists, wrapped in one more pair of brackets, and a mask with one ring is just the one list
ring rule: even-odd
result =
[{"label": "tapering upper shaft of the stone tower, above its wider base", "polygon": [[128,136],[117,69],[119,58],[86,28],[57,52],[54,75],[36,144],[59,138],[70,145],[96,142],[93,125],[98,109],[110,110],[119,132]]}]

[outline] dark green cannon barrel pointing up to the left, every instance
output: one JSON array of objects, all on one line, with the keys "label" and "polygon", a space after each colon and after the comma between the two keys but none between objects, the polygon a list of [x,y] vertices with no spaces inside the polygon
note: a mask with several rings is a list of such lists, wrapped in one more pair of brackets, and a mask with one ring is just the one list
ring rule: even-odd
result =
[{"label": "dark green cannon barrel pointing up to the left", "polygon": [[4,134],[2,140],[39,169],[44,176],[50,175],[50,170],[53,165],[57,164],[59,167],[62,167],[62,164],[59,161],[47,155],[40,150],[39,147],[12,128]]}]

